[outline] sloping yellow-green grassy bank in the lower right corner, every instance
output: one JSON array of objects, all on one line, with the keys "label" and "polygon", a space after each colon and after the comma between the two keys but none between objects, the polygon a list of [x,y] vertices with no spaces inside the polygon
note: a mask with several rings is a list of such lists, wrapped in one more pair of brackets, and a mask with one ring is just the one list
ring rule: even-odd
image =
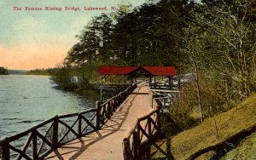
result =
[{"label": "sloping yellow-green grassy bank in the lower right corner", "polygon": [[[200,125],[193,129],[183,131],[173,137],[167,137],[165,140],[158,141],[151,146],[152,159],[186,159],[191,157],[197,151],[204,150],[211,146],[224,143],[235,134],[240,133],[246,129],[256,126],[256,94],[251,95],[247,100],[244,100],[238,106],[233,107],[229,111],[218,114],[218,116],[210,117]],[[252,150],[246,148],[253,148],[255,146],[255,135],[248,137],[250,141],[247,143],[245,139],[238,142],[238,147],[233,154],[242,159],[253,158],[246,157],[246,155],[255,155]],[[254,141],[253,141],[254,140]],[[233,145],[233,144],[232,144]],[[216,148],[220,149],[220,148]],[[213,150],[213,149],[212,149]],[[247,151],[246,153],[244,151]],[[209,151],[202,159],[209,159],[214,156],[216,151]],[[218,151],[217,151],[218,153]],[[232,152],[230,152],[232,154]],[[230,156],[231,157],[231,156]],[[229,158],[229,157],[227,157]]]}]

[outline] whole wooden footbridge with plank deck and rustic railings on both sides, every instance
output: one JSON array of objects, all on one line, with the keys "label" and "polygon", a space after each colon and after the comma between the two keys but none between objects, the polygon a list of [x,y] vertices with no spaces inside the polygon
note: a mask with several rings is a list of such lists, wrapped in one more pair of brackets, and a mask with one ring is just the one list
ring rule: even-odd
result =
[{"label": "whole wooden footbridge with plank deck and rustic railings on both sides", "polygon": [[[131,86],[96,109],[53,117],[0,141],[2,159],[138,159],[160,127],[148,86]],[[15,140],[25,140],[21,145]]]}]

